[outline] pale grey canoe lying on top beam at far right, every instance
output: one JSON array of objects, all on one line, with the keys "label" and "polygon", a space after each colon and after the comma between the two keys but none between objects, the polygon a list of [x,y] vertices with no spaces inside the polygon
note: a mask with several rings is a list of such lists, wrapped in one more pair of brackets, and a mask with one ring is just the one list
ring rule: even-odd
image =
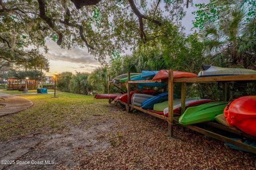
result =
[{"label": "pale grey canoe lying on top beam at far right", "polygon": [[238,74],[256,74],[256,71],[250,69],[230,69],[212,65],[202,65],[202,71],[198,73],[198,77]]}]

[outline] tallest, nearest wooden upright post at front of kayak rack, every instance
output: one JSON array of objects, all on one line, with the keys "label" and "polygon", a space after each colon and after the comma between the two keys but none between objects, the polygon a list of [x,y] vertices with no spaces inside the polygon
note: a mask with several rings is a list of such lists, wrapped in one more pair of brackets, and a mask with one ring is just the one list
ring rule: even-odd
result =
[{"label": "tallest, nearest wooden upright post at front of kayak rack", "polygon": [[168,105],[169,105],[169,114],[168,114],[168,135],[173,137],[173,71],[169,70],[169,79],[168,79]]}]

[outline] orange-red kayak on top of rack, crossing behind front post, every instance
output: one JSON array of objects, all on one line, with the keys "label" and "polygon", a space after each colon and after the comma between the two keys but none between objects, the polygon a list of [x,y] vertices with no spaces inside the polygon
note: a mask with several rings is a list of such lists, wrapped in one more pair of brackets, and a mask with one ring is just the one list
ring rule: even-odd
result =
[{"label": "orange-red kayak on top of rack, crossing behind front post", "polygon": [[[152,80],[167,79],[169,77],[168,70],[160,70]],[[197,77],[194,73],[173,71],[173,78],[195,78]]]}]

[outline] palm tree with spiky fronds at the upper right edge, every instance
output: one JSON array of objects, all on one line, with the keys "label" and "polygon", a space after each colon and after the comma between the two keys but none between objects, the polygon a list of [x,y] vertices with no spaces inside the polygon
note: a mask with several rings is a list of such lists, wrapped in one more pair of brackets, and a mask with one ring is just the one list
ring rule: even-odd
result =
[{"label": "palm tree with spiky fronds at the upper right edge", "polygon": [[246,7],[236,5],[222,13],[219,24],[204,29],[205,56],[227,65],[256,68],[256,19],[246,20]]}]

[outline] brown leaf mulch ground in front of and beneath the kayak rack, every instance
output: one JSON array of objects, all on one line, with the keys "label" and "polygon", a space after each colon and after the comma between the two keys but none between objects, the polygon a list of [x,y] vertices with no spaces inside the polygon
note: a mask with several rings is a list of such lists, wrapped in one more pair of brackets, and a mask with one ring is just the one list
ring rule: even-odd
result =
[{"label": "brown leaf mulch ground in front of and beneath the kayak rack", "polygon": [[[142,113],[127,114],[108,105],[115,124],[97,139],[108,148],[75,151],[73,169],[255,169],[255,155],[226,147],[223,142],[193,131],[174,129],[167,137],[167,124]],[[65,166],[59,166],[65,169]]]}]

